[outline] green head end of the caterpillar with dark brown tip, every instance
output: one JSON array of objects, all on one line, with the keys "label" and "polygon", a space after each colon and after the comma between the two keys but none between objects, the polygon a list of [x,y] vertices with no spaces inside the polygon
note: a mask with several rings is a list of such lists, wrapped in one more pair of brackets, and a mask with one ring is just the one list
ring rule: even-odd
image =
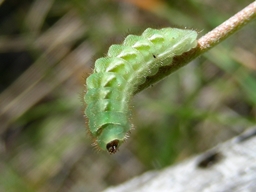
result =
[{"label": "green head end of the caterpillar with dark brown tip", "polygon": [[126,128],[122,125],[107,124],[101,129],[96,143],[102,150],[114,154],[126,138]]}]

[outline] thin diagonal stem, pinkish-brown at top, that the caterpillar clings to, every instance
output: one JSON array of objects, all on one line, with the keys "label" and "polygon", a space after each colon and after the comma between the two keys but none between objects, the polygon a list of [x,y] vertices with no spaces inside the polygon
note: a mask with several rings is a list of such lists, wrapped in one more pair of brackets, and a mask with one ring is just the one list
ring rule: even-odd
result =
[{"label": "thin diagonal stem, pinkish-brown at top, that the caterpillar clings to", "polygon": [[140,85],[135,92],[138,93],[164,77],[170,75],[177,69],[188,64],[190,61],[200,56],[207,50],[213,48],[217,44],[224,41],[243,26],[248,24],[256,17],[256,1],[242,9],[240,12],[229,18],[227,21],[204,35],[198,40],[197,47],[182,55],[176,56],[169,66],[161,67],[158,73],[154,76],[148,77],[146,82]]}]

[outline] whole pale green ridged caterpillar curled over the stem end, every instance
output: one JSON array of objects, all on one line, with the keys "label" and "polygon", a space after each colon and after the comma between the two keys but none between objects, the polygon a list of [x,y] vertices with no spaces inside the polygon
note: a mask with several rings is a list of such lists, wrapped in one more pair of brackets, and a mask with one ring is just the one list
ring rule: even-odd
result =
[{"label": "whole pale green ridged caterpillar curled over the stem end", "polygon": [[131,129],[129,102],[138,85],[176,55],[196,47],[197,33],[176,28],[146,29],[112,45],[86,79],[85,116],[95,144],[115,153]]}]

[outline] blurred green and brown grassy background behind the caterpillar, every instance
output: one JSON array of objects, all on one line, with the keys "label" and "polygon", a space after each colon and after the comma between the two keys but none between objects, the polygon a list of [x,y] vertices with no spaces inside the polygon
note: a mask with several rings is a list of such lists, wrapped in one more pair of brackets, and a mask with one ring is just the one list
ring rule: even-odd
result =
[{"label": "blurred green and brown grassy background behind the caterpillar", "polygon": [[0,0],[0,192],[95,192],[162,169],[255,125],[256,23],[137,94],[135,130],[96,152],[83,92],[127,34],[206,34],[251,0]]}]

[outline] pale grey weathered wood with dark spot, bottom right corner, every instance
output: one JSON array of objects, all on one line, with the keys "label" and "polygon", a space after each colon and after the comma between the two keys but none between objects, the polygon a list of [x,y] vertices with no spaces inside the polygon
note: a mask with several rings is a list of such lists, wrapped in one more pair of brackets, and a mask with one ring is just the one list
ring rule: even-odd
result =
[{"label": "pale grey weathered wood with dark spot, bottom right corner", "polygon": [[256,127],[204,154],[104,192],[255,192]]}]

